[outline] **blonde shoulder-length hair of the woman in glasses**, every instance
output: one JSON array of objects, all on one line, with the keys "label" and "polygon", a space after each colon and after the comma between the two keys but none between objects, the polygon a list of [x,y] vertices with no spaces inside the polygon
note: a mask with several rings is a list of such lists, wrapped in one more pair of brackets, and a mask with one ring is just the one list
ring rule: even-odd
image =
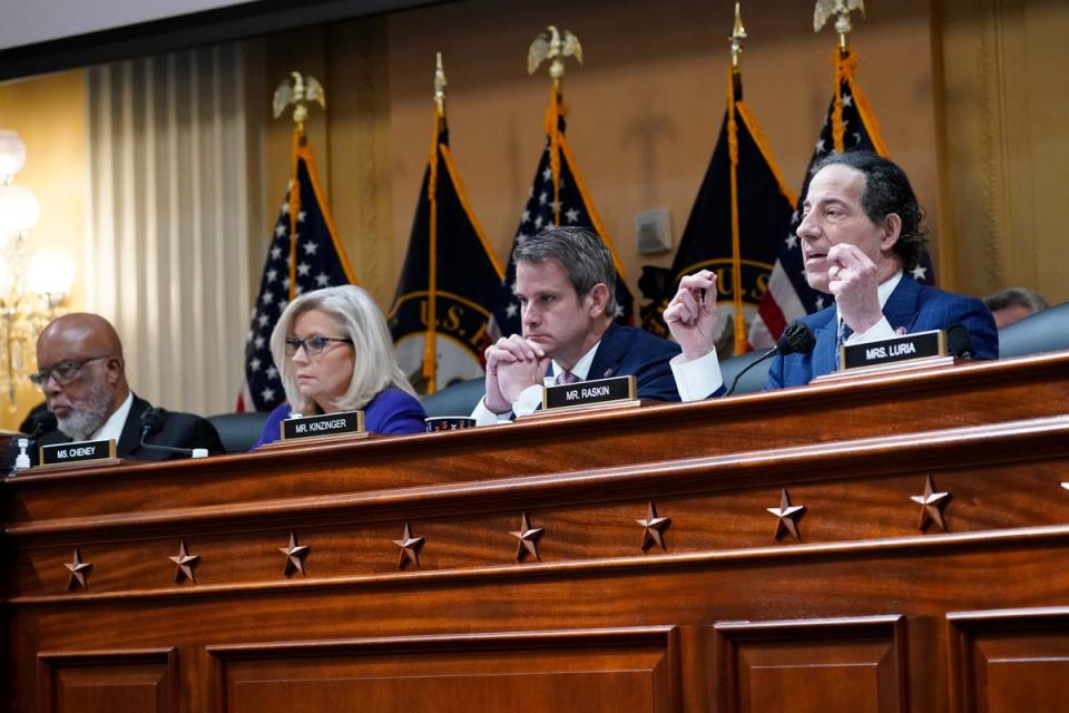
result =
[{"label": "blonde shoulder-length hair of the woman in glasses", "polygon": [[[415,395],[393,356],[393,341],[382,311],[366,290],[342,285],[307,292],[286,305],[275,330],[271,333],[271,355],[282,375],[286,400],[297,413],[315,413],[316,404],[301,395],[293,363],[286,356],[286,339],[293,335],[294,321],[305,312],[316,310],[337,323],[337,336],[353,341],[353,375],[349,389],[334,403],[342,411],[362,409],[388,387]],[[332,335],[333,336],[333,335]]]}]

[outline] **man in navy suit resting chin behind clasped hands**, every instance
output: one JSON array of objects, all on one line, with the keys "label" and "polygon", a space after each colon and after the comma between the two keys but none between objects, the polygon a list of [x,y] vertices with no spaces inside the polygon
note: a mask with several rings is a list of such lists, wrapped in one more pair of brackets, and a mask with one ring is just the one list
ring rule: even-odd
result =
[{"label": "man in navy suit resting chin behind clasped hands", "polygon": [[479,424],[532,413],[542,383],[635,375],[638,398],[678,401],[668,362],[679,348],[616,315],[616,267],[605,242],[578,227],[551,227],[517,244],[516,296],[523,334],[487,349]]}]

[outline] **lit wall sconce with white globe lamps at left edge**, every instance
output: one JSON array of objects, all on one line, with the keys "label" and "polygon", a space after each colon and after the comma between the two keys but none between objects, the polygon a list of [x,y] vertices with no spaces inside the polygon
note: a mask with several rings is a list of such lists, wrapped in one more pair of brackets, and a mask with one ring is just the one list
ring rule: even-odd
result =
[{"label": "lit wall sconce with white globe lamps at left edge", "polygon": [[75,281],[73,261],[61,250],[43,248],[27,260],[23,241],[41,205],[14,183],[24,163],[19,135],[0,130],[0,389],[12,411],[19,383],[33,371],[37,335],[59,316]]}]

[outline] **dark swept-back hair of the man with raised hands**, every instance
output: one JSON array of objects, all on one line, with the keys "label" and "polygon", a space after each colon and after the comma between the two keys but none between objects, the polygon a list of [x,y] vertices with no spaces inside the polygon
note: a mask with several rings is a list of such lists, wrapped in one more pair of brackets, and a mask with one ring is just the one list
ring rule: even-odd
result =
[{"label": "dark swept-back hair of the man with raised hands", "polygon": [[894,244],[894,252],[902,260],[904,270],[916,267],[928,244],[928,228],[924,227],[924,208],[916,199],[905,172],[894,162],[872,152],[828,154],[813,168],[813,175],[827,166],[850,166],[864,174],[865,192],[861,196],[861,207],[875,224],[892,213],[902,218],[902,231]]}]

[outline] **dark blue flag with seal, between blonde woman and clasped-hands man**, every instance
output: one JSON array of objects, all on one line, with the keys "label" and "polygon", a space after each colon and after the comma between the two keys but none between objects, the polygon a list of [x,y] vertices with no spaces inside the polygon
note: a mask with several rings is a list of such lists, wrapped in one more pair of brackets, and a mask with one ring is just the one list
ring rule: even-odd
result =
[{"label": "dark blue flag with seal, between blonde woman and clasped-hands man", "polygon": [[464,197],[445,119],[437,121],[388,315],[398,363],[421,393],[482,375],[490,305],[501,284],[501,265]]}]

